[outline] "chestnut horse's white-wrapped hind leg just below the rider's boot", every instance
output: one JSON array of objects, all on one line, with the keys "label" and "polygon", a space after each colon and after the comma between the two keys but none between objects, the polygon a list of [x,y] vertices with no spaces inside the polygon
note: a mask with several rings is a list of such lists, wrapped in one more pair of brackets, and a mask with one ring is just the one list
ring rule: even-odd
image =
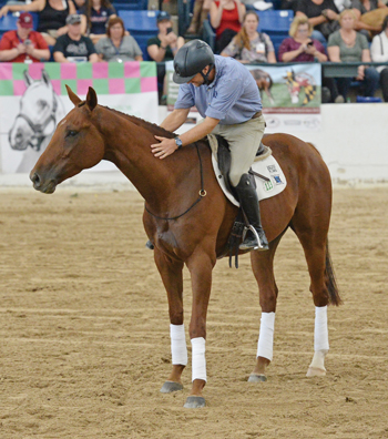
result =
[{"label": "chestnut horse's white-wrapped hind leg just below the rider's boot", "polygon": [[261,329],[257,343],[256,365],[249,381],[266,381],[265,371],[273,358],[274,326],[277,300],[277,286],[274,276],[274,256],[283,234],[269,244],[267,252],[252,252],[251,263],[258,284],[262,307]]}]

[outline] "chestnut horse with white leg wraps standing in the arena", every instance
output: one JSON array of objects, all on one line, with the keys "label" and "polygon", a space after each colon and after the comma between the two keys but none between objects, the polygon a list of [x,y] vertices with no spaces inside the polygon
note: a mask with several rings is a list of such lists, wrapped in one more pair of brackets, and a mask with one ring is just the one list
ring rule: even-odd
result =
[{"label": "chestnut horse with white leg wraps standing in the arena", "polygon": [[[192,390],[185,407],[203,407],[206,382],[206,313],[212,270],[237,215],[214,175],[211,150],[205,140],[184,146],[165,160],[151,153],[154,135],[173,137],[164,129],[98,105],[90,88],[81,101],[69,88],[75,108],[58,124],[50,144],[31,171],[33,187],[53,193],[58,184],[101,160],[113,162],[145,200],[143,223],[154,244],[154,258],[167,292],[173,366],[163,392],[183,388],[181,376],[187,363],[183,326],[184,264],[191,273],[193,305],[190,321],[192,340]],[[307,376],[325,375],[328,350],[327,305],[340,298],[331,269],[327,233],[331,210],[329,172],[317,150],[287,134],[265,136],[287,178],[286,188],[261,202],[269,251],[251,253],[252,268],[259,288],[262,324],[256,364],[249,381],[266,380],[272,360],[273,324],[277,299],[274,255],[286,229],[298,236],[308,264],[310,292],[316,307],[314,357]],[[264,316],[266,319],[264,319]],[[176,335],[180,329],[181,335]],[[198,341],[198,343],[194,343]]]}]

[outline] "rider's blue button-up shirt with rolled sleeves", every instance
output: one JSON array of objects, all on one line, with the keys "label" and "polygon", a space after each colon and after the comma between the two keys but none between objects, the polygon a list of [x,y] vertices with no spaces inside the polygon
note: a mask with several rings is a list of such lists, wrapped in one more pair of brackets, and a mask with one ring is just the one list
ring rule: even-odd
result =
[{"label": "rider's blue button-up shirt with rolled sleeves", "polygon": [[203,118],[222,125],[248,121],[262,110],[257,84],[246,67],[233,58],[215,55],[215,78],[210,85],[180,85],[175,109],[196,106]]}]

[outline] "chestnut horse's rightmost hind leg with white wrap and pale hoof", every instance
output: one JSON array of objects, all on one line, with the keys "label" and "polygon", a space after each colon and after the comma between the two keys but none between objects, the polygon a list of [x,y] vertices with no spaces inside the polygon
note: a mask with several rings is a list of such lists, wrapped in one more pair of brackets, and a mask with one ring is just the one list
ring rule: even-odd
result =
[{"label": "chestnut horse's rightmost hind leg with white wrap and pale hoof", "polygon": [[300,210],[303,213],[299,215],[297,212],[290,225],[305,252],[315,305],[314,358],[307,377],[326,375],[325,357],[329,350],[327,305],[330,297],[326,286],[326,248],[330,205],[326,210],[320,205],[319,210],[319,215],[315,215],[314,212],[306,215],[305,210]]}]

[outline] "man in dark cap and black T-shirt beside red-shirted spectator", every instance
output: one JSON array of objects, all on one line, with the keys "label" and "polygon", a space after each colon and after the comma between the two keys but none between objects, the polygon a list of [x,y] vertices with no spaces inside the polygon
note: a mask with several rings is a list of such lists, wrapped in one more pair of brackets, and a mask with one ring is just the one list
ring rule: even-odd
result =
[{"label": "man in dark cap and black T-shirt beside red-shirted spectator", "polygon": [[67,18],[68,33],[58,38],[53,49],[57,62],[90,61],[98,62],[92,40],[81,33],[81,16],[74,13]]}]

